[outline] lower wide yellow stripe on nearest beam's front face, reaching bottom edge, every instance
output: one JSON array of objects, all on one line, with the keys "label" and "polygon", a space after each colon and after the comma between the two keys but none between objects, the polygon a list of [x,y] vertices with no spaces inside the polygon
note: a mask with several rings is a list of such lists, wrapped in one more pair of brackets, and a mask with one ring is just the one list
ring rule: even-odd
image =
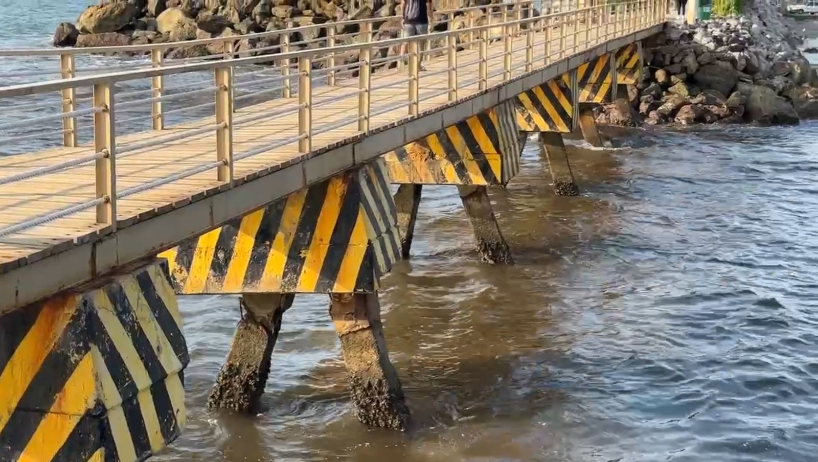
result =
[{"label": "lower wide yellow stripe on nearest beam's front face, reaching bottom edge", "polygon": [[86,353],[56,394],[54,405],[34,431],[20,455],[20,462],[52,460],[74,431],[85,411],[94,405],[96,388],[91,353]]}]

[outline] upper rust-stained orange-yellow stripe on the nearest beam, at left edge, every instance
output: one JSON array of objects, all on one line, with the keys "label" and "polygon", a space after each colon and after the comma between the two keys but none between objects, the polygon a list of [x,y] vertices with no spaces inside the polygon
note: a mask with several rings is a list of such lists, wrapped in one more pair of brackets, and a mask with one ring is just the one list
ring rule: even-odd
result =
[{"label": "upper rust-stained orange-yellow stripe on the nearest beam, at left edge", "polygon": [[[97,290],[97,293],[100,293]],[[43,366],[54,343],[74,315],[78,300],[75,295],[49,299],[40,308],[37,321],[17,346],[0,373],[0,430],[6,426],[11,413],[20,402],[34,375]],[[31,309],[31,308],[28,308]]]}]

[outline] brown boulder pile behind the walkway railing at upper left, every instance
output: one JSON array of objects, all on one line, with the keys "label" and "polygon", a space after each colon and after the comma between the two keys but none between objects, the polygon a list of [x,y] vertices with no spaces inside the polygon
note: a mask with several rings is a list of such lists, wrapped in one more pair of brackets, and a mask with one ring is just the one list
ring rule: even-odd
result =
[{"label": "brown boulder pile behind the walkway railing at upper left", "polygon": [[[393,16],[395,3],[383,2],[378,11],[365,7],[350,15],[345,0],[111,0],[88,7],[74,24],[58,25],[54,45],[109,47],[231,37],[373,15]],[[339,30],[339,34],[351,32],[357,30]],[[325,34],[323,28],[314,28],[294,34],[291,40],[312,41]],[[339,40],[339,44],[347,42]],[[254,49],[267,48],[263,52],[268,53],[269,47],[278,43],[278,36],[241,39],[236,52],[246,56],[257,54]],[[218,55],[223,48],[222,43],[209,43],[169,49],[168,54],[171,58]]]}]

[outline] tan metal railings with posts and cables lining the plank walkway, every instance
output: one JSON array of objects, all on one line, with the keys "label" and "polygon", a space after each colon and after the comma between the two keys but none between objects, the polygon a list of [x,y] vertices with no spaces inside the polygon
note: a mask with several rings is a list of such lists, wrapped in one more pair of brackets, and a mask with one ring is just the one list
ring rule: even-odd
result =
[{"label": "tan metal railings with posts and cables lining the plank walkway", "polygon": [[[32,168],[22,173],[0,177],[0,186],[13,185],[33,177],[94,164],[96,195],[81,204],[50,210],[47,213],[26,218],[22,222],[0,227],[0,237],[25,231],[87,209],[96,209],[97,225],[110,227],[111,231],[115,231],[118,201],[130,195],[212,170],[216,171],[215,179],[218,182],[230,185],[234,180],[236,163],[242,159],[270,152],[282,146],[296,144],[298,152],[306,154],[321,147],[316,146],[315,137],[335,132],[341,128],[345,128],[344,133],[348,133],[349,125],[353,125],[358,133],[365,134],[374,128],[373,119],[382,114],[394,113],[393,119],[395,120],[406,116],[416,116],[420,114],[421,105],[425,102],[438,101],[435,98],[443,95],[447,96],[445,101],[457,101],[464,92],[483,91],[491,85],[506,82],[543,65],[550,65],[566,56],[595,47],[612,38],[626,36],[637,30],[660,24],[665,20],[665,11],[667,11],[667,0],[631,0],[570,11],[539,11],[539,14],[535,16],[533,8],[527,7],[528,4],[529,2],[519,2],[513,5],[500,4],[463,8],[457,11],[440,11],[440,16],[446,16],[449,25],[455,24],[454,19],[457,16],[465,18],[465,25],[461,23],[463,27],[459,29],[422,37],[390,38],[380,41],[373,41],[373,23],[382,21],[384,18],[348,21],[349,24],[359,27],[359,38],[355,43],[342,45],[335,43],[338,37],[335,34],[337,30],[335,26],[339,24],[335,23],[326,26],[328,32],[323,38],[326,46],[298,51],[291,48],[293,43],[290,43],[289,38],[293,31],[305,28],[294,28],[290,29],[289,33],[281,35],[279,43],[281,49],[276,55],[236,57],[235,49],[228,47],[229,52],[226,53],[224,59],[218,61],[169,65],[167,61],[163,61],[162,51],[166,47],[188,46],[191,43],[216,43],[218,40],[222,40],[222,43],[227,42],[220,38],[188,43],[146,45],[138,49],[151,52],[150,67],[84,77],[75,76],[73,56],[77,53],[88,52],[88,50],[37,51],[37,54],[61,56],[62,78],[0,87],[0,105],[14,98],[57,92],[61,96],[61,112],[0,123],[0,128],[29,126],[50,121],[60,122],[61,128],[56,133],[63,135],[62,144],[74,148],[70,152],[72,154],[75,152],[77,157],[43,168]],[[501,11],[492,13],[491,10],[497,7],[500,7]],[[276,32],[281,33],[281,31]],[[247,37],[266,36],[249,34],[229,39],[237,41]],[[520,43],[524,44],[521,46]],[[492,47],[500,49],[500,46],[501,52],[489,54]],[[395,48],[400,48],[402,52],[399,52],[397,56],[375,58],[375,52]],[[114,48],[106,49],[114,50]],[[129,49],[133,47],[116,47],[116,50]],[[468,61],[461,62],[459,59],[461,51],[470,53]],[[25,56],[26,52],[29,51],[6,51],[0,52],[0,56],[4,54]],[[357,59],[353,62],[339,64],[339,57],[348,56],[349,53],[357,54]],[[424,59],[438,58],[446,63],[443,70],[434,72],[422,70],[421,62]],[[269,66],[271,64],[274,65]],[[260,65],[267,67],[258,69],[257,66]],[[383,66],[385,69],[378,66]],[[245,71],[248,67],[252,70]],[[245,72],[242,73],[242,71]],[[383,74],[384,81],[373,85],[373,72]],[[199,87],[192,90],[169,93],[164,85],[164,80],[173,75],[202,73],[212,73],[209,83],[201,83]],[[421,94],[421,81],[440,74],[446,74],[443,80],[446,87],[423,88],[424,93]],[[237,83],[243,80],[243,75],[252,77],[247,81],[250,84],[263,83],[274,86],[261,87],[245,93],[236,92]],[[396,75],[402,78],[390,77]],[[356,78],[357,83],[354,83]],[[144,80],[150,82],[150,88],[118,95],[118,83]],[[92,88],[91,104],[86,109],[79,109],[78,89],[85,87]],[[335,87],[338,87],[337,90],[333,90]],[[380,94],[379,92],[384,89],[393,90],[395,87],[405,87],[406,91],[387,92],[389,94],[384,94],[383,97],[373,98],[373,94]],[[321,88],[322,94],[330,96],[320,100],[314,98],[318,88]],[[327,93],[327,88],[332,91]],[[427,90],[430,92],[426,92]],[[195,105],[173,110],[166,107],[165,103],[178,101],[185,95],[194,94],[212,95],[212,99],[204,104],[197,102]],[[146,97],[133,101],[118,101],[119,96],[125,95]],[[271,112],[234,117],[237,102],[248,100],[251,97],[271,95],[293,104],[282,105]],[[323,123],[320,126],[313,125],[312,112],[314,109],[323,105],[337,104],[342,100],[357,100],[357,103],[354,103],[357,106],[356,116],[332,123]],[[116,114],[140,104],[150,105],[150,114],[145,118],[151,120],[150,128],[156,132],[156,136],[155,139],[148,141],[128,142],[118,137]],[[436,104],[446,103],[441,101]],[[170,134],[166,134],[168,132],[164,131],[166,128],[164,121],[167,114],[173,111],[193,109],[212,110],[212,117],[201,119],[193,126],[188,124],[183,129],[174,129]],[[293,114],[297,114],[297,123],[295,123],[297,130],[294,135],[264,142],[240,152],[236,151],[236,143],[234,143],[236,129],[246,127],[249,123],[257,123],[259,120],[280,119]],[[77,119],[82,116],[92,118],[92,143],[89,146],[79,146],[77,139]],[[126,189],[117,187],[117,159],[137,155],[154,146],[208,136],[212,136],[214,141],[215,157],[213,159],[203,161],[196,167],[187,170],[151,179],[137,186]],[[25,135],[18,138],[7,137],[3,141],[4,146],[23,137]],[[339,135],[340,139],[344,137],[347,135]],[[15,157],[19,156],[25,157],[25,154]]]}]

